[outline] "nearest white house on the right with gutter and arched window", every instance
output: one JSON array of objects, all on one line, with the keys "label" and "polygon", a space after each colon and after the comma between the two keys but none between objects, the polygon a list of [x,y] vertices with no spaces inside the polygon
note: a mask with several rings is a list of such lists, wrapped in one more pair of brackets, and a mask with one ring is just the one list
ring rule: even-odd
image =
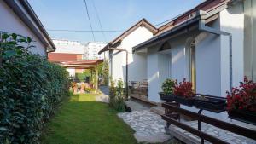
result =
[{"label": "nearest white house on the right with gutter and arched window", "polygon": [[147,61],[148,99],[160,101],[166,78],[187,78],[196,93],[223,97],[244,76],[256,80],[255,17],[256,1],[207,0],[134,46]]}]

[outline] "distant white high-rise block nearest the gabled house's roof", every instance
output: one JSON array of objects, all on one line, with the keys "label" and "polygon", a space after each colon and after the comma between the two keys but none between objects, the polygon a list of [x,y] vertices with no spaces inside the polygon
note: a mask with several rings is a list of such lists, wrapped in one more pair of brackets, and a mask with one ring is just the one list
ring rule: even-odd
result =
[{"label": "distant white high-rise block nearest the gabled house's roof", "polygon": [[89,42],[85,44],[84,60],[103,60],[108,58],[108,51],[102,53],[98,52],[106,46],[106,43],[102,42]]}]

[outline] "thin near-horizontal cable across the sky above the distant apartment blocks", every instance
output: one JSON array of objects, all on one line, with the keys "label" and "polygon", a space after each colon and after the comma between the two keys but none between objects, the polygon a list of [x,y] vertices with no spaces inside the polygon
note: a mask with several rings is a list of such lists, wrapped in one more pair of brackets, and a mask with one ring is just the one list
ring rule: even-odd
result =
[{"label": "thin near-horizontal cable across the sky above the distant apartment blocks", "polygon": [[70,29],[47,29],[53,32],[124,32],[125,30],[70,30]]}]

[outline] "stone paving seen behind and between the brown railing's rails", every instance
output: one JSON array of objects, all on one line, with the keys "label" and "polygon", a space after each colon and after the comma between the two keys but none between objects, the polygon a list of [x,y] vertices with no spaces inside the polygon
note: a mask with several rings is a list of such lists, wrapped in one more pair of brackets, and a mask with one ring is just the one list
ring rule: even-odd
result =
[{"label": "stone paving seen behind and between the brown railing's rails", "polygon": [[[184,123],[197,129],[197,121],[190,121],[190,122],[184,122]],[[252,125],[250,125],[250,124],[243,123],[242,125],[247,128],[249,128],[249,127],[252,128]],[[183,135],[187,135],[187,136],[189,136],[189,138],[191,138],[195,141],[198,141],[199,143],[201,141],[201,139],[199,137],[192,135],[191,133],[189,133],[183,129],[180,129],[177,126],[171,125],[170,129],[177,130],[177,131],[183,133]],[[256,127],[253,127],[253,130],[256,130]],[[224,141],[228,141],[231,144],[256,144],[256,141],[253,141],[252,139],[249,139],[249,138],[241,136],[241,135],[236,135],[236,134],[231,133],[226,130],[221,130],[221,129],[214,127],[210,124],[201,123],[201,131],[207,132],[207,134],[216,136]],[[209,143],[209,142],[205,141],[205,143]]]}]

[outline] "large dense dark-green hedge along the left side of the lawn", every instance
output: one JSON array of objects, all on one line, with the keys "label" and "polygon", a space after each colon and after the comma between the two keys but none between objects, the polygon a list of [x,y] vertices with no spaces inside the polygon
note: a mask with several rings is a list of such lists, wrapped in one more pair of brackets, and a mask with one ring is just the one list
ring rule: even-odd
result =
[{"label": "large dense dark-green hedge along the left side of the lawn", "polygon": [[68,95],[67,71],[28,52],[31,42],[0,37],[0,143],[38,143],[44,122]]}]

